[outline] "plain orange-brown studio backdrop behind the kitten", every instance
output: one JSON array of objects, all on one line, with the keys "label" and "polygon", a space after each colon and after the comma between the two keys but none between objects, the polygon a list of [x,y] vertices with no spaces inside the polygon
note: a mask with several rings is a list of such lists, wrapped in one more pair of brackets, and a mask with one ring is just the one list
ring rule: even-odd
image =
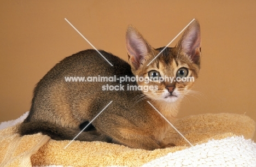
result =
[{"label": "plain orange-brown studio backdrop behind the kitten", "polygon": [[126,61],[127,25],[161,47],[198,19],[203,57],[194,90],[202,96],[188,96],[179,117],[231,112],[256,120],[256,1],[1,1],[0,122],[30,109],[34,85],[57,62],[91,48],[65,18]]}]

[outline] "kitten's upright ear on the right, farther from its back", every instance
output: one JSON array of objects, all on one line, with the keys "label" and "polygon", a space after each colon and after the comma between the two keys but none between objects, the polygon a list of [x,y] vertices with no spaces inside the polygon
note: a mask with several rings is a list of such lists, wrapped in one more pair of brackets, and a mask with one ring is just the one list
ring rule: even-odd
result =
[{"label": "kitten's upright ear on the right, farther from its back", "polygon": [[188,55],[191,61],[200,65],[201,33],[200,25],[197,20],[194,20],[185,30],[182,38],[178,42],[177,47]]}]

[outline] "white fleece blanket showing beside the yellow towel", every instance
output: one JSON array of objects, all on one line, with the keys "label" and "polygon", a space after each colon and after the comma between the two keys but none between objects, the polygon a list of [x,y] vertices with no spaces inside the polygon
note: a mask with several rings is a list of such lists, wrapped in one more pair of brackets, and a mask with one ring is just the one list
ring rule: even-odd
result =
[{"label": "white fleece blanket showing beside the yellow towel", "polygon": [[[22,122],[27,115],[28,112],[16,120],[0,123],[0,129]],[[169,153],[142,166],[256,166],[256,144],[243,136],[210,140],[204,144]],[[51,167],[61,166],[51,165]]]}]

